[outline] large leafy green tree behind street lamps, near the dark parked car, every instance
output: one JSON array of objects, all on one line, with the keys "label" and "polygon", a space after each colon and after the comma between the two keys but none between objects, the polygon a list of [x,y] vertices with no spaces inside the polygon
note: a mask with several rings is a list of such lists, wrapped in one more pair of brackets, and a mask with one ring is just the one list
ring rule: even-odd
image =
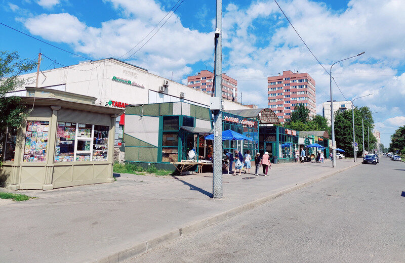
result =
[{"label": "large leafy green tree behind street lamps, near the dark parked car", "polygon": [[[370,127],[370,146],[372,146],[377,139],[371,132],[374,128],[374,119],[369,107],[360,107],[354,109],[354,133],[355,141],[358,143],[358,155],[363,153],[362,147],[362,126],[361,119],[364,119],[365,125],[365,148],[368,146],[367,127]],[[352,126],[352,112],[343,111],[335,114],[335,140],[338,148],[345,150],[345,155],[353,156],[353,126]]]}]

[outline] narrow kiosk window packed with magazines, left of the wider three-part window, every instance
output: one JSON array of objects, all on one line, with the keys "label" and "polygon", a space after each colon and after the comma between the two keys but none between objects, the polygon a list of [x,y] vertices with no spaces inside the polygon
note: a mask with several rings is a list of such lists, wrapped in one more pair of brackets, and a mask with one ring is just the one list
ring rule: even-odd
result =
[{"label": "narrow kiosk window packed with magazines, left of the wider three-part window", "polygon": [[44,162],[47,158],[49,121],[27,121],[24,162]]}]

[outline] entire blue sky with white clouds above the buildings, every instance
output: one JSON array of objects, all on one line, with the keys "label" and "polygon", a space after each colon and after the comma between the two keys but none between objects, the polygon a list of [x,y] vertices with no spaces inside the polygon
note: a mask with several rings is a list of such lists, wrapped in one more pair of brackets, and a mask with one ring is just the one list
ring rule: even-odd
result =
[{"label": "entire blue sky with white clouds above the buildings", "polygon": [[[118,58],[132,49],[176,2],[0,0],[0,21],[92,60]],[[278,3],[326,68],[366,51],[334,66],[333,76],[343,93],[334,87],[334,99],[350,100],[374,93],[355,104],[367,105],[377,112],[376,128],[381,131],[382,143],[388,146],[393,131],[405,125],[405,31],[401,30],[405,28],[405,2]],[[174,80],[182,83],[187,75],[205,68],[212,70],[214,19],[214,0],[184,0],[128,62],[168,78],[173,72]],[[18,51],[22,57],[36,59],[41,49],[63,65],[85,60],[1,25],[0,34],[0,50]],[[244,103],[266,107],[266,77],[283,70],[299,70],[315,79],[317,112],[321,113],[321,103],[330,99],[329,75],[305,48],[273,0],[224,0],[223,37],[224,72],[238,80]],[[42,70],[52,67],[52,61],[43,60]]]}]

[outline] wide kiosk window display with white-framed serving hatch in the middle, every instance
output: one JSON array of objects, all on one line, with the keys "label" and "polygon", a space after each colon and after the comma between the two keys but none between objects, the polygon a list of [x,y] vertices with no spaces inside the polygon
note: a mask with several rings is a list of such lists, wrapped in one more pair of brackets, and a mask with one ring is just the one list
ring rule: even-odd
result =
[{"label": "wide kiosk window display with white-framed serving hatch in the middle", "polygon": [[108,126],[58,122],[55,162],[106,161]]}]

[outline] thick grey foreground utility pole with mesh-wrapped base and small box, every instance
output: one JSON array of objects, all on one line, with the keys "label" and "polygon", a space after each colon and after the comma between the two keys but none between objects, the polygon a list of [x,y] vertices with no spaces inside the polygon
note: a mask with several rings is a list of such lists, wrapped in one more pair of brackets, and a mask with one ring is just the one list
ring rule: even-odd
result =
[{"label": "thick grey foreground utility pole with mesh-wrapped base and small box", "polygon": [[214,111],[214,176],[213,198],[222,198],[222,0],[217,1],[215,29],[215,97],[221,109]]}]

